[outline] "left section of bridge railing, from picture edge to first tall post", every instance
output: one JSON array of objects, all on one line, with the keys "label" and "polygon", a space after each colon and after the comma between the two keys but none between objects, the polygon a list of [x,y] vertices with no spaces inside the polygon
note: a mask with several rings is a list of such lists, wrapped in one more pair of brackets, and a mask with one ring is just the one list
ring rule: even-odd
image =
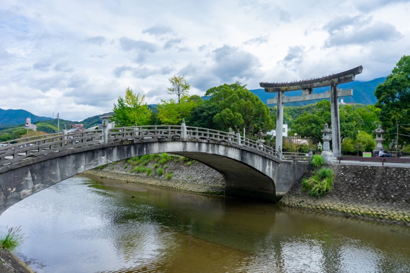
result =
[{"label": "left section of bridge railing, from picture edge to first tall post", "polygon": [[0,147],[0,166],[53,152],[80,148],[104,142],[102,130],[87,130],[69,134],[50,134],[42,139],[28,140]]}]

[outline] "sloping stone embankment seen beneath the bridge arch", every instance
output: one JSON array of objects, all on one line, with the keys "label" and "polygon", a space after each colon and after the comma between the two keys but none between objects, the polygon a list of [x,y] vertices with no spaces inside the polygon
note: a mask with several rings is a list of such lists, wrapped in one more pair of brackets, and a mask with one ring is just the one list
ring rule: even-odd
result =
[{"label": "sloping stone embankment seen beneath the bridge arch", "polygon": [[[155,164],[159,166],[154,167]],[[149,175],[147,172],[132,172],[135,167],[132,162],[121,160],[107,164],[103,169],[96,168],[86,171],[84,174],[199,194],[225,194],[225,180],[222,175],[198,161],[187,162],[178,156],[162,164],[152,160],[144,166],[146,169],[152,170]],[[156,173],[159,168],[163,170],[162,175]],[[167,178],[167,174],[171,174],[172,177]]]}]

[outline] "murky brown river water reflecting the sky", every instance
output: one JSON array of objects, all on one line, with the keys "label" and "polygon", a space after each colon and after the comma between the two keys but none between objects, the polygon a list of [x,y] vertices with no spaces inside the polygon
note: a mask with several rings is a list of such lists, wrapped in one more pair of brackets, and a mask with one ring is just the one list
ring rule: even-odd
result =
[{"label": "murky brown river water reflecting the sky", "polygon": [[39,273],[410,271],[408,227],[116,185],[67,179],[7,209],[0,225],[22,225],[20,252]]}]

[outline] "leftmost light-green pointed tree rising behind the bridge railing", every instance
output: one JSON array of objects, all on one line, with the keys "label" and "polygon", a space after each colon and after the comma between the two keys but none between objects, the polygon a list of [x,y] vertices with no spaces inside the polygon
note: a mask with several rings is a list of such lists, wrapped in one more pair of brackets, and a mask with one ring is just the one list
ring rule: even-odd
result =
[{"label": "leftmost light-green pointed tree rising behind the bridge railing", "polygon": [[127,88],[125,97],[119,96],[117,103],[114,103],[113,121],[116,127],[148,125],[151,120],[152,111],[144,102],[145,95],[134,94],[132,89]]}]

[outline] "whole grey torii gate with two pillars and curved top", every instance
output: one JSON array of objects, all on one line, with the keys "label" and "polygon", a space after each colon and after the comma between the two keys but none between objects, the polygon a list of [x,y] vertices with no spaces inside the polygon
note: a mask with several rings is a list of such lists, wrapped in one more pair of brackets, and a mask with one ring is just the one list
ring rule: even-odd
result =
[{"label": "whole grey torii gate with two pillars and curved top", "polygon": [[[260,87],[265,89],[265,92],[277,92],[278,96],[273,99],[268,99],[268,104],[277,104],[276,112],[276,146],[278,151],[279,146],[282,146],[282,128],[283,128],[283,103],[295,102],[303,100],[324,99],[330,98],[331,101],[331,116],[332,116],[332,139],[333,139],[333,155],[335,157],[341,156],[341,144],[340,144],[340,120],[339,120],[339,101],[338,97],[352,96],[353,90],[341,90],[337,89],[337,85],[341,83],[350,82],[355,80],[357,74],[362,73],[363,67],[347,70],[338,74],[332,74],[329,76],[301,80],[295,82],[286,83],[268,83],[260,82]],[[317,87],[330,86],[330,91],[324,93],[313,94],[313,89]],[[302,90],[301,96],[283,96],[284,92]]]}]

